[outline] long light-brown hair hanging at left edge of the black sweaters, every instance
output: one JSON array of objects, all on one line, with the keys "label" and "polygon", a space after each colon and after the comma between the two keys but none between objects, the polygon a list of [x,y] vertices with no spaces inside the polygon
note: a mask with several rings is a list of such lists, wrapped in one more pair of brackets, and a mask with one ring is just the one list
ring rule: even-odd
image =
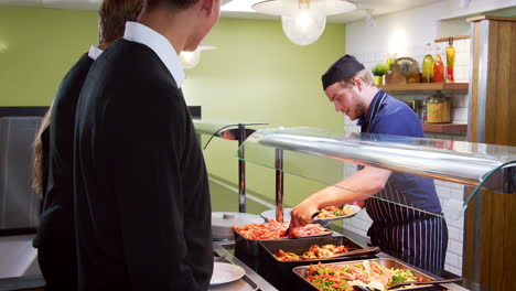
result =
[{"label": "long light-brown hair hanging at left edge of the black sweaters", "polygon": [[32,147],[34,149],[34,164],[32,166],[32,188],[41,198],[45,196],[46,181],[43,180],[49,171],[45,164],[45,159],[49,159],[49,153],[45,152],[45,149],[43,148],[42,136],[43,132],[50,127],[51,115],[52,106],[51,108],[49,108],[49,111],[46,111],[45,116],[41,120],[40,129],[37,130],[34,142],[32,143]]}]

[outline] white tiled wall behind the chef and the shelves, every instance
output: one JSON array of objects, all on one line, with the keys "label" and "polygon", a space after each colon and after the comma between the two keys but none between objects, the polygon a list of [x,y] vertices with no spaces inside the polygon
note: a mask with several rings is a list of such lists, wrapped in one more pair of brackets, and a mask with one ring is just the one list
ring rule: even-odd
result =
[{"label": "white tiled wall behind the chef and the shelves", "polygon": [[[422,58],[426,55],[426,43],[438,39],[437,28],[439,20],[436,15],[442,12],[444,4],[437,3],[428,7],[421,7],[400,13],[388,14],[376,19],[376,28],[367,28],[364,23],[354,22],[346,25],[346,53],[355,55],[364,63],[366,68],[370,69],[378,63],[385,63],[387,56],[393,54],[393,45],[390,39],[399,31],[402,31],[405,39],[402,53],[397,54],[400,56],[409,56],[418,62],[421,68]],[[364,37],[367,35],[368,37]],[[398,37],[398,36],[396,36]],[[443,52],[448,43],[438,43]],[[470,63],[470,40],[455,40],[454,47],[456,51],[455,56],[455,80],[469,82],[469,72],[471,69]],[[399,47],[399,46],[398,46]],[[445,55],[443,52],[443,61],[445,64]],[[453,122],[467,122],[467,96],[465,93],[451,94],[444,93],[451,97],[452,100],[452,121]],[[422,99],[432,95],[432,93],[423,94],[393,94],[394,97],[406,99]],[[344,130],[345,132],[358,132],[359,127],[356,122],[351,121],[345,117]],[[444,139],[452,141],[464,141],[465,134],[441,134],[441,133],[427,133],[427,138]],[[355,164],[347,164],[343,169],[344,176],[347,177],[356,172]],[[441,200],[443,211],[452,215],[453,218],[448,217],[449,242],[445,260],[445,270],[455,274],[462,274],[462,254],[463,254],[463,227],[464,220],[461,216],[458,217],[458,211],[450,211],[450,205],[461,205],[463,201],[464,186],[461,184],[449,183],[443,181],[436,181],[436,188]],[[370,218],[366,212],[361,212],[358,215],[351,219],[344,220],[344,227],[354,233],[365,236],[370,226]]]}]

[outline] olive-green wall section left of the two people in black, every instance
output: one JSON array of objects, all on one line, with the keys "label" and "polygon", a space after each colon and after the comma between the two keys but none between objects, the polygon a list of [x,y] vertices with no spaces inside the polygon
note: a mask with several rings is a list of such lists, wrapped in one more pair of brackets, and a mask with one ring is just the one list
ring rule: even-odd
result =
[{"label": "olive-green wall section left of the two people in black", "polygon": [[0,7],[0,106],[50,105],[97,42],[97,12]]}]

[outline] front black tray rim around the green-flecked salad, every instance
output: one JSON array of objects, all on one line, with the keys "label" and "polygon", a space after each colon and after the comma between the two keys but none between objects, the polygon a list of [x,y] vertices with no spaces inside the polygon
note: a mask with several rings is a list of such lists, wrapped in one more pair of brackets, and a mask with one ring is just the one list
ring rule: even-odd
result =
[{"label": "front black tray rim around the green-flecked salad", "polygon": [[[325,263],[325,265],[333,265],[333,266],[345,266],[345,265],[354,265],[354,263],[362,263],[364,260],[354,260],[354,261],[343,261],[343,262],[334,262],[334,263]],[[395,269],[405,269],[405,270],[410,270],[412,271],[413,276],[416,276],[416,278],[418,278],[419,280],[423,280],[423,281],[429,281],[429,280],[437,280],[438,278],[437,277],[432,277],[430,274],[427,274],[418,269],[416,269],[415,267],[409,267],[408,265],[406,265],[405,262],[401,262],[397,259],[387,259],[387,258],[380,258],[380,259],[370,259],[370,260],[367,260],[367,261],[376,261],[377,263],[379,263],[380,266],[383,267],[386,267],[386,268],[395,268]],[[304,279],[304,276],[307,274],[307,270],[310,266],[300,266],[300,267],[295,267],[292,269],[292,271],[297,274],[299,281],[301,282],[304,282],[304,285],[310,285],[310,290],[319,290],[315,285],[313,285],[312,283],[310,283],[309,281],[307,281],[307,279]],[[413,288],[404,288],[401,290],[418,290],[418,291],[436,291],[438,290],[438,287],[437,285],[418,285],[418,287],[413,287]]]}]

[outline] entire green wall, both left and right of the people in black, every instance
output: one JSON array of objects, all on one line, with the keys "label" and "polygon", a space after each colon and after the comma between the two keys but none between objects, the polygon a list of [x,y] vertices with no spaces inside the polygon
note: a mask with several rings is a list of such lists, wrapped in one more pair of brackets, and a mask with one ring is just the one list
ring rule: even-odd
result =
[{"label": "entire green wall, both left and right of the people in black", "polygon": [[[92,11],[0,8],[0,106],[50,105],[64,74],[97,42],[96,31],[97,13]],[[279,21],[221,19],[204,43],[217,50],[202,53],[200,65],[186,71],[184,84],[187,104],[201,105],[204,117],[342,132],[344,119],[325,99],[320,77],[344,54],[344,25],[327,24],[319,41],[299,46],[284,36]],[[205,150],[209,174],[236,185],[236,150],[234,141],[212,141]],[[271,159],[261,160],[272,164]],[[334,181],[341,177],[336,163],[289,155],[286,160],[288,170],[309,169]],[[248,163],[249,191],[273,202],[273,174]],[[294,205],[322,186],[286,175],[286,203]],[[236,201],[236,194],[216,196],[222,193],[218,188],[213,186],[215,208]],[[237,211],[235,206],[227,211]],[[261,211],[256,205],[249,208]]]}]

